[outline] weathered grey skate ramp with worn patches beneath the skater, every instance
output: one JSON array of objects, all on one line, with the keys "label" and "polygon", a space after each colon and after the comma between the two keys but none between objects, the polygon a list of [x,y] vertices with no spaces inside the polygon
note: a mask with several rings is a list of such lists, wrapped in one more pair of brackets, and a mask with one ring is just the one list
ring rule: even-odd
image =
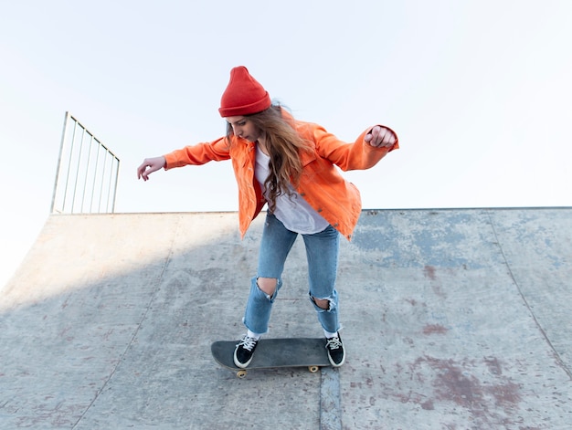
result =
[{"label": "weathered grey skate ramp with worn patches beneath the skater", "polygon": [[[572,208],[367,210],[340,369],[217,365],[264,216],[51,215],[0,290],[0,428],[572,427]],[[267,337],[322,336],[299,238]]]}]

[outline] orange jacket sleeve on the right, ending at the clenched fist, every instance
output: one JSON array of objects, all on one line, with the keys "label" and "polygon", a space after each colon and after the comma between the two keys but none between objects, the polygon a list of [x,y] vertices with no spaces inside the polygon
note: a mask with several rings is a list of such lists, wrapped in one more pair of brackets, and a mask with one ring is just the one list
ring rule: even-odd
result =
[{"label": "orange jacket sleeve on the right, ending at the clenched fist", "polygon": [[334,163],[344,172],[364,170],[376,165],[387,155],[387,152],[399,148],[397,134],[388,127],[386,128],[396,136],[396,143],[392,148],[376,148],[365,142],[365,136],[373,127],[362,132],[355,142],[348,143],[340,141],[334,134],[325,131],[322,126],[312,124],[312,140],[320,156]]}]

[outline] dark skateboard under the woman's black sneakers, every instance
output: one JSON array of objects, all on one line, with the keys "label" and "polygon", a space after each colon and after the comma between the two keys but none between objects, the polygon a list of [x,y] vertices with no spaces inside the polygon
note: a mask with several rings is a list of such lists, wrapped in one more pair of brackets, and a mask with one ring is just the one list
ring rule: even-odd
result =
[{"label": "dark skateboard under the woman's black sneakers", "polygon": [[241,369],[234,363],[238,341],[216,341],[210,346],[213,357],[223,367],[244,378],[251,369],[307,367],[312,373],[323,366],[331,366],[325,340],[319,338],[261,339],[249,367]]}]

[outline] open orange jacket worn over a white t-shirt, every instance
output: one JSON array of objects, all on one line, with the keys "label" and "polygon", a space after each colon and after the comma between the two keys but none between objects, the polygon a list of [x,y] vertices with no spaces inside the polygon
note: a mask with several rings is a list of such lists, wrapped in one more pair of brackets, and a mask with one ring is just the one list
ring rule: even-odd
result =
[{"label": "open orange jacket worn over a white t-shirt", "polygon": [[[312,153],[301,154],[303,167],[298,193],[328,223],[350,240],[361,213],[361,198],[355,185],[347,182],[334,164],[344,172],[368,169],[379,162],[387,152],[397,149],[398,143],[396,142],[391,149],[372,147],[364,141],[371,127],[360,134],[354,143],[346,143],[338,140],[320,125],[294,121],[284,111],[283,115],[292,122],[302,138],[311,142],[314,149]],[[254,176],[255,148],[255,143],[237,136],[232,136],[230,145],[224,138],[219,138],[214,142],[198,143],[164,155],[166,160],[164,168],[167,170],[188,164],[199,165],[210,161],[232,160],[238,183],[240,235],[244,237],[250,223],[260,214],[266,203],[260,184]]]}]

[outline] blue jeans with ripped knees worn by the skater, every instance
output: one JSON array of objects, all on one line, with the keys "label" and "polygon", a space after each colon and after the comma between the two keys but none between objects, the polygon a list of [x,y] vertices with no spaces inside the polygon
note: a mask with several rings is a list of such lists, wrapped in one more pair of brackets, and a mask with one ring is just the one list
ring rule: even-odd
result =
[{"label": "blue jeans with ripped knees worn by the skater", "polygon": [[[284,262],[298,233],[288,230],[276,216],[268,214],[260,242],[257,276],[252,278],[250,294],[244,316],[247,328],[255,333],[268,331],[270,311],[282,286]],[[318,320],[326,331],[335,333],[340,329],[338,321],[338,294],[335,290],[340,235],[332,226],[313,235],[302,235],[308,260],[309,294]],[[269,297],[258,287],[258,278],[277,279],[276,291]],[[329,309],[322,309],[313,299],[327,299]]]}]

